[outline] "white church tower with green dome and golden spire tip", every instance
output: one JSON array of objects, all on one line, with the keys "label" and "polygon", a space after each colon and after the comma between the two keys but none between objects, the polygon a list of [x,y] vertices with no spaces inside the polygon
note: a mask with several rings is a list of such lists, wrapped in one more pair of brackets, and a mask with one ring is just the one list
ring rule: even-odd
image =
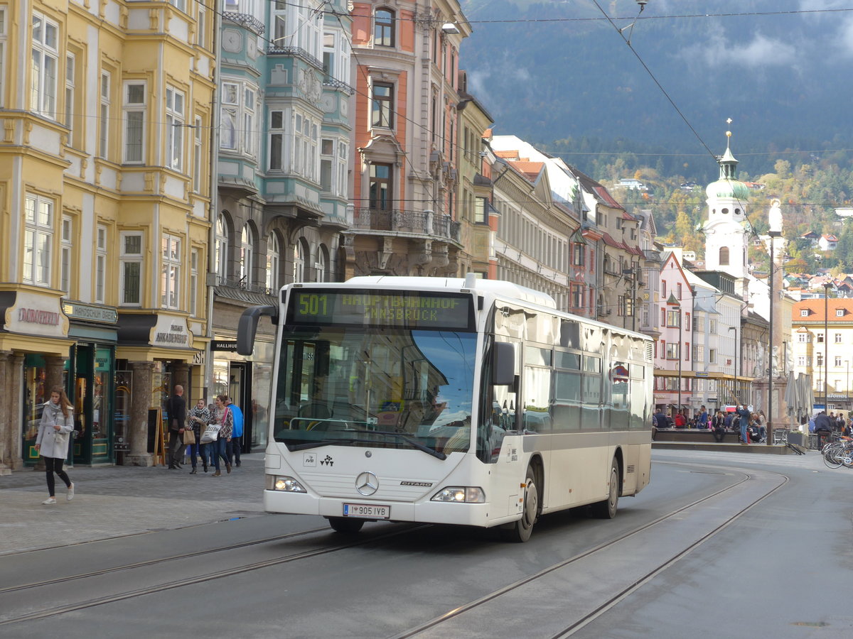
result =
[{"label": "white church tower with green dome and golden spire tip", "polygon": [[737,180],[738,161],[728,144],[731,136],[731,131],[726,131],[726,153],[717,159],[720,177],[705,188],[708,219],[702,230],[705,233],[705,268],[733,275],[740,281],[739,293],[742,294],[748,273],[747,239],[751,232],[746,219],[749,189]]}]

